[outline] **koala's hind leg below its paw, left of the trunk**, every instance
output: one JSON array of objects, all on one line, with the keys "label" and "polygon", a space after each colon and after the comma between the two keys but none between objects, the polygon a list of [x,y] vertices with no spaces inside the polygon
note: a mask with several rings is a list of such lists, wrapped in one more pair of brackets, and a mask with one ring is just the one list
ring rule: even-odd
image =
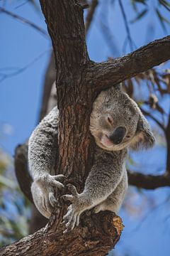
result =
[{"label": "koala's hind leg below its paw, left of the trunk", "polygon": [[50,189],[50,191],[42,190],[42,188],[38,185],[36,181],[34,181],[31,186],[31,192],[33,195],[33,201],[35,203],[35,206],[36,208],[38,208],[40,213],[43,216],[45,216],[45,218],[50,218],[50,215],[54,210],[54,208],[52,207],[52,200],[51,200],[52,195],[54,195],[54,191],[52,191],[53,188],[48,188],[48,189]]}]

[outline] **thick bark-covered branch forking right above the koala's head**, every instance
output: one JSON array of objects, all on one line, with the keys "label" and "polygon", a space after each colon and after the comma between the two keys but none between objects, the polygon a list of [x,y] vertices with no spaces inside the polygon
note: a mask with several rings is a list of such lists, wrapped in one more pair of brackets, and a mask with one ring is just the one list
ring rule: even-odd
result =
[{"label": "thick bark-covered branch forking right above the koala's head", "polygon": [[89,67],[86,77],[100,92],[170,59],[170,36],[158,39],[128,55]]}]

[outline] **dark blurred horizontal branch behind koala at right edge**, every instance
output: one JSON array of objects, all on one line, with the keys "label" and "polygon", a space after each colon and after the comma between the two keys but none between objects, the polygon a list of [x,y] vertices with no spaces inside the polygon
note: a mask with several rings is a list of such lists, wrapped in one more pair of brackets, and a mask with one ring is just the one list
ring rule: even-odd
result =
[{"label": "dark blurred horizontal branch behind koala at right edge", "polygon": [[170,174],[154,176],[128,171],[128,182],[138,188],[155,189],[170,186]]}]

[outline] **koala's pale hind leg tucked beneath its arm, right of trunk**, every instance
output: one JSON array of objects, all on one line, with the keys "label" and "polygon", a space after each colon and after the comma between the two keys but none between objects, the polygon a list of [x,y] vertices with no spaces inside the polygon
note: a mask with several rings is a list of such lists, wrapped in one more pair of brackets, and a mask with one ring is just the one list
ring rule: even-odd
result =
[{"label": "koala's pale hind leg tucked beneath its arm, right of trunk", "polygon": [[98,213],[101,210],[111,210],[112,212],[118,214],[118,210],[123,203],[127,189],[128,176],[127,171],[125,171],[125,173],[123,174],[123,178],[121,179],[118,186],[115,188],[115,191],[113,191],[113,193],[111,193],[111,195],[108,196],[105,201],[99,203],[98,206],[94,208],[94,212]]}]

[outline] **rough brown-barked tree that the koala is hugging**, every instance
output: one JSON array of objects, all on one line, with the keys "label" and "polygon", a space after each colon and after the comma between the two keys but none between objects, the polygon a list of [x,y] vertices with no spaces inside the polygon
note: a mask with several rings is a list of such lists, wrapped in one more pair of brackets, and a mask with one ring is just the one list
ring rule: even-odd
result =
[{"label": "rough brown-barked tree that the koala is hugging", "polygon": [[[89,134],[89,117],[96,95],[169,60],[170,37],[149,43],[122,58],[94,63],[86,50],[82,6],[75,0],[41,0],[40,4],[52,38],[57,73],[62,137],[59,138],[56,174],[67,174],[69,182],[81,191],[93,161],[94,141]],[[74,123],[79,125],[74,126]],[[139,186],[152,188],[153,182],[155,187],[169,186],[169,174],[149,177],[130,174],[130,183],[137,182],[137,175],[145,179]],[[64,211],[65,207],[57,209],[46,228],[2,248],[1,255],[56,255],[56,252],[58,255],[77,255],[77,252],[79,255],[106,255],[118,241],[122,224],[120,218],[113,218],[111,213],[99,213],[97,218],[91,212],[85,213],[77,229],[62,235],[64,227],[60,223]]]}]

